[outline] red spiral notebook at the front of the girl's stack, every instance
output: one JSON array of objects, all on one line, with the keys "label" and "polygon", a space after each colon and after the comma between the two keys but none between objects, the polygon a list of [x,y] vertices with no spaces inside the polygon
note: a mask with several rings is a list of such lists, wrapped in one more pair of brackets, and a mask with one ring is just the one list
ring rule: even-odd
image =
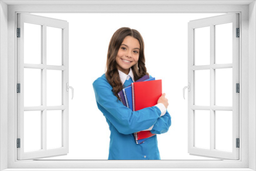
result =
[{"label": "red spiral notebook at the front of the girl's stack", "polygon": [[[132,83],[133,111],[138,111],[157,104],[162,95],[162,80],[152,80]],[[150,131],[134,133],[136,143],[138,140],[154,136]]]}]

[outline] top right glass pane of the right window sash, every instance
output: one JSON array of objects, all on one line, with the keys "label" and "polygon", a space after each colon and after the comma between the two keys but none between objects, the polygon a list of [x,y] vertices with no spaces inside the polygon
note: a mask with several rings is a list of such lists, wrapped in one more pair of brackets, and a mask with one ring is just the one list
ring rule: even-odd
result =
[{"label": "top right glass pane of the right window sash", "polygon": [[215,26],[215,62],[232,63],[232,23]]}]

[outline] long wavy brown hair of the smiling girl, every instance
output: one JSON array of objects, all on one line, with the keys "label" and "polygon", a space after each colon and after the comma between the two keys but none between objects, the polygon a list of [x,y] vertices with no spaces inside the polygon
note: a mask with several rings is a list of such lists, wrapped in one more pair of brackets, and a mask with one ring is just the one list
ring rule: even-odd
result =
[{"label": "long wavy brown hair of the smiling girl", "polygon": [[140,52],[139,60],[136,65],[132,68],[134,74],[134,80],[138,80],[144,75],[148,75],[146,72],[145,66],[145,56],[144,56],[144,41],[140,33],[135,29],[130,29],[127,27],[122,27],[118,29],[112,36],[109,44],[108,55],[106,59],[106,79],[109,81],[110,85],[113,87],[112,91],[114,95],[119,99],[118,92],[123,89],[122,82],[119,77],[116,56],[118,50],[126,36],[132,36],[139,40],[140,43]]}]

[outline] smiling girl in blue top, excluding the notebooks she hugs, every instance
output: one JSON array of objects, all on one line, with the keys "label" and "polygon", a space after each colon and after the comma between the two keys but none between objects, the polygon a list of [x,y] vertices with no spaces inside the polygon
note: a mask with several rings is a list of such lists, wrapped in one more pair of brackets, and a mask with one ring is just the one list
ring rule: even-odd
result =
[{"label": "smiling girl in blue top, excluding the notebooks she hugs", "polygon": [[168,131],[171,122],[165,94],[155,106],[135,112],[124,106],[117,94],[146,74],[144,42],[140,33],[130,28],[118,29],[110,40],[106,73],[93,82],[98,108],[111,131],[109,160],[160,160],[157,136],[136,144],[133,133],[162,134]]}]

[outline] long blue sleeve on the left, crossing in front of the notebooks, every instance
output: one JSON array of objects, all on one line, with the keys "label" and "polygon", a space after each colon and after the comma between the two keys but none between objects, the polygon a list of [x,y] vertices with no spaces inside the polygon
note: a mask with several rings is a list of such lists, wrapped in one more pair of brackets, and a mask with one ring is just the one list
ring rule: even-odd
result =
[{"label": "long blue sleeve on the left, crossing in front of the notebooks", "polygon": [[133,112],[117,99],[107,80],[95,80],[93,88],[99,110],[121,134],[132,134],[148,129],[161,116],[161,111],[157,106]]}]

